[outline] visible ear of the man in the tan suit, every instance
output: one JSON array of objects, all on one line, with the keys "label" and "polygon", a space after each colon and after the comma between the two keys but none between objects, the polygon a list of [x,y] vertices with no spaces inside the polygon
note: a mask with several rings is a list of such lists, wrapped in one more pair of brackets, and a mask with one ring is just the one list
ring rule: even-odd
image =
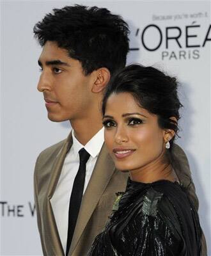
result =
[{"label": "visible ear of the man in the tan suit", "polygon": [[98,68],[95,72],[95,81],[93,83],[93,86],[91,88],[91,92],[93,93],[99,93],[102,92],[109,83],[109,80],[111,78],[111,73],[107,68]]}]

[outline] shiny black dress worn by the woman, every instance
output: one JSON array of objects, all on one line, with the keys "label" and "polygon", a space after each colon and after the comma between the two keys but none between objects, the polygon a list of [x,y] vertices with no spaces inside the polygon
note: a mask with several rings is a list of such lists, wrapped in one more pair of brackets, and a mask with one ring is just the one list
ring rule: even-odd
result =
[{"label": "shiny black dress worn by the woman", "polygon": [[118,209],[88,255],[198,256],[200,239],[198,214],[182,186],[168,180],[144,184],[129,179]]}]

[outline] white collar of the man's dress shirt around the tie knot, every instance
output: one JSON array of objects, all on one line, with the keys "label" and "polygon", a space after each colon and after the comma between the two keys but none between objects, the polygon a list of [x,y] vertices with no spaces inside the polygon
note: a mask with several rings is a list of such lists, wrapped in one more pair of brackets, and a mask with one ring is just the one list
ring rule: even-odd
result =
[{"label": "white collar of the man's dress shirt around the tie knot", "polygon": [[96,157],[100,153],[100,149],[104,143],[104,127],[100,129],[92,138],[91,140],[86,143],[86,145],[82,145],[77,138],[75,138],[74,131],[72,130],[72,140],[73,140],[73,149],[74,155],[77,156],[79,150],[81,148],[85,148],[86,151],[90,154],[91,157]]}]

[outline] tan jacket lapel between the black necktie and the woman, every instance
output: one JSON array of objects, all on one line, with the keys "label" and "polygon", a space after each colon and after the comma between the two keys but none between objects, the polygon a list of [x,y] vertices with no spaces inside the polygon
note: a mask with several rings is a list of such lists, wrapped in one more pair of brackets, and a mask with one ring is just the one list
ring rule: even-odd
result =
[{"label": "tan jacket lapel between the black necktie and the woman", "polygon": [[75,246],[79,242],[79,238],[90,220],[91,214],[95,210],[100,197],[104,193],[104,190],[109,183],[114,170],[115,168],[113,161],[111,161],[111,157],[109,156],[107,148],[104,144],[100,150],[100,154],[91,175],[90,182],[88,183],[86,191],[82,197],[81,208],[77,218],[75,232],[68,255],[72,255],[72,252],[74,252]]}]

